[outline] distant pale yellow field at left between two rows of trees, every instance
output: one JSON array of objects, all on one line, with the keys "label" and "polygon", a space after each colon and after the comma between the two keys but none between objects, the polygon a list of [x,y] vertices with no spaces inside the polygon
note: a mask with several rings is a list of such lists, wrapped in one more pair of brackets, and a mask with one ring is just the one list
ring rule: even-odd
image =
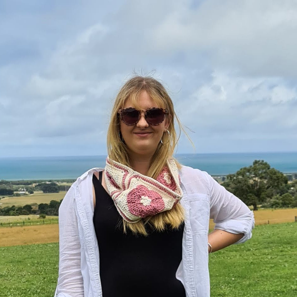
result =
[{"label": "distant pale yellow field at left between two rows of trees", "polygon": [[64,198],[66,191],[60,191],[59,193],[34,193],[32,195],[24,195],[20,197],[6,197],[0,200],[0,207],[5,206],[24,206],[31,203],[49,203],[51,200],[60,201]]}]

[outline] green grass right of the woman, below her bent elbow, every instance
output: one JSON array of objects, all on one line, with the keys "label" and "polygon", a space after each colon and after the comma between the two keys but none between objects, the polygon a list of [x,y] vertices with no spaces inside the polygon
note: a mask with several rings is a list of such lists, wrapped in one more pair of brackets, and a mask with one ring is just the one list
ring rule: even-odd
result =
[{"label": "green grass right of the woman, below her bent elbow", "polygon": [[244,244],[210,255],[211,296],[296,296],[297,223],[260,225]]}]

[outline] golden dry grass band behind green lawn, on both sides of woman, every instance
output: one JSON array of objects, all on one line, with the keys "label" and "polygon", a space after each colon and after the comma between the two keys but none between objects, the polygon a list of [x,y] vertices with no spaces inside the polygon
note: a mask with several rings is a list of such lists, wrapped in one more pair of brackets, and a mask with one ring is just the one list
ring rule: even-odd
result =
[{"label": "golden dry grass band behind green lawn, on both sides of woman", "polygon": [[[254,211],[256,225],[293,222],[297,216],[297,208],[289,209],[263,209]],[[28,217],[28,216],[27,216]],[[297,224],[297,223],[296,223]],[[209,222],[212,230],[214,223]],[[25,245],[33,243],[59,242],[58,224],[24,227],[0,227],[0,246]]]}]

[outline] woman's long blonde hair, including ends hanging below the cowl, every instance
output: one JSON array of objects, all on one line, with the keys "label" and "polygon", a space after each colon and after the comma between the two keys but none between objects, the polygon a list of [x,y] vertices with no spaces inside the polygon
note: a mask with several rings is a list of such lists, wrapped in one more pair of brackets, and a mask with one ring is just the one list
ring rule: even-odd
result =
[{"label": "woman's long blonde hair, including ends hanging below the cowl", "polygon": [[[181,130],[184,128],[181,125],[179,118],[176,116],[173,108],[173,103],[169,97],[164,86],[151,76],[134,76],[129,79],[120,89],[117,94],[112,113],[111,119],[107,132],[107,152],[111,160],[122,163],[126,166],[130,166],[129,154],[127,146],[120,139],[120,120],[118,116],[118,110],[123,108],[125,102],[131,99],[135,107],[138,107],[138,97],[142,91],[147,91],[149,96],[158,104],[158,107],[168,109],[169,111],[169,133],[164,133],[162,141],[164,144],[159,143],[158,147],[153,155],[149,171],[147,176],[156,179],[166,164],[166,160],[173,158],[175,146],[180,138]],[[179,135],[175,131],[174,121],[179,125]],[[186,134],[187,135],[187,134]],[[176,164],[178,168],[181,165],[177,160]],[[184,209],[177,203],[177,205],[169,211],[160,212],[154,216],[149,216],[137,223],[128,223],[123,220],[123,230],[126,233],[126,229],[130,229],[134,234],[147,235],[145,230],[145,224],[149,224],[154,227],[157,231],[163,231],[166,224],[169,224],[172,229],[176,229],[184,221]]]}]

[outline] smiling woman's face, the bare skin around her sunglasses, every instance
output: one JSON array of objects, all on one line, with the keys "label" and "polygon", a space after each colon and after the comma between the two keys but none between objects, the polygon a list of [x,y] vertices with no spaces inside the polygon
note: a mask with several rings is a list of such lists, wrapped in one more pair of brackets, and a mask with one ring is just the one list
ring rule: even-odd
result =
[{"label": "smiling woman's face, the bare skin around her sunglasses", "polygon": [[[151,107],[159,107],[153,101],[146,91],[142,91],[139,96],[138,104],[142,110]],[[128,99],[123,108],[134,107],[130,99]],[[122,137],[130,151],[130,157],[133,158],[134,154],[145,156],[152,156],[156,151],[158,144],[169,127],[168,115],[159,125],[150,125],[144,116],[144,111],[141,112],[139,121],[132,125],[126,125],[120,120],[120,128]]]}]

